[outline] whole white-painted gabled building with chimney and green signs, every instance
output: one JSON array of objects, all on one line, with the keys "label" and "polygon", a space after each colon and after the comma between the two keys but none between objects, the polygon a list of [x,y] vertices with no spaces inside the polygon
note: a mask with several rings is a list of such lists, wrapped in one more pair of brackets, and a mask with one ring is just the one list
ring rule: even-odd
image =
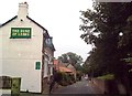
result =
[{"label": "whole white-painted gabled building with chimney and green signs", "polygon": [[53,72],[48,64],[55,49],[47,30],[29,17],[28,8],[26,2],[19,3],[18,15],[0,26],[0,75],[21,77],[22,92],[42,93],[43,79]]}]

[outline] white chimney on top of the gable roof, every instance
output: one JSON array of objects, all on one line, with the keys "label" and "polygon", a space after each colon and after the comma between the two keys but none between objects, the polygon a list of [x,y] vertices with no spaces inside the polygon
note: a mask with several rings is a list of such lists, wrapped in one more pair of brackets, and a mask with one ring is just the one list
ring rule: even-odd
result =
[{"label": "white chimney on top of the gable roof", "polygon": [[26,2],[19,3],[18,17],[22,20],[25,19],[26,15],[29,14],[28,9],[29,4]]}]

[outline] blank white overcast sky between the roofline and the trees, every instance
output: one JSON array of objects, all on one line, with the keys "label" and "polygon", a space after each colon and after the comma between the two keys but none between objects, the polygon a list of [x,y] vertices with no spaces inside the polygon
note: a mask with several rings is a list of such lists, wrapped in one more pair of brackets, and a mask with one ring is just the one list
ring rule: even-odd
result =
[{"label": "blank white overcast sky between the roofline and the trees", "polygon": [[44,26],[56,49],[55,57],[73,52],[84,61],[91,46],[80,39],[80,10],[92,8],[91,0],[0,0],[0,23],[18,14],[20,2],[29,3],[29,17]]}]

